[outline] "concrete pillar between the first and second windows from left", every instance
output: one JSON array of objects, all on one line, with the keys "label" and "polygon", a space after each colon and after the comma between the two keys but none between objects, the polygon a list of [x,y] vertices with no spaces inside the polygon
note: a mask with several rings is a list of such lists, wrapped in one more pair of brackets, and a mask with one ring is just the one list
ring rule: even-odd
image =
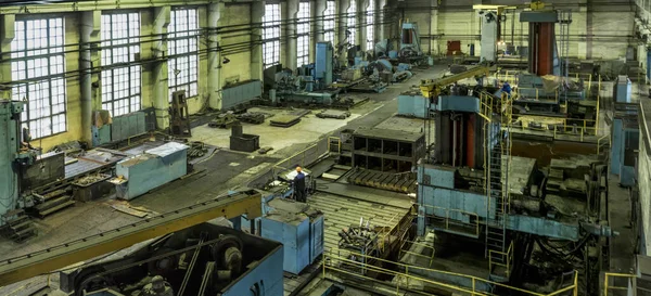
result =
[{"label": "concrete pillar between the first and second windows from left", "polygon": [[98,95],[98,88],[93,93],[92,83],[98,81],[99,74],[92,73],[92,61],[100,61],[98,42],[102,24],[101,11],[85,11],[81,13],[81,26],[79,27],[79,88],[81,101],[81,141],[92,146],[92,110],[101,108],[102,99]]}]

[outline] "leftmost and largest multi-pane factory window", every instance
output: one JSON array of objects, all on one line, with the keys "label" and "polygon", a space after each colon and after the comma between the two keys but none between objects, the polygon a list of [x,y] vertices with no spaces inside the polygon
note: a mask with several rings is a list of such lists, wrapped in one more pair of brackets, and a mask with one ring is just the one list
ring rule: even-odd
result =
[{"label": "leftmost and largest multi-pane factory window", "polygon": [[63,17],[16,20],[11,42],[13,100],[26,100],[23,127],[34,139],[66,130]]}]

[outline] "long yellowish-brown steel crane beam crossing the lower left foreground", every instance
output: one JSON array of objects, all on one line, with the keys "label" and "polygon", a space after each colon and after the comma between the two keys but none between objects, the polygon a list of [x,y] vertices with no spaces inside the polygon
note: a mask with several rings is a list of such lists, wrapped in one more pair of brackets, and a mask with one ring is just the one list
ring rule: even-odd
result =
[{"label": "long yellowish-brown steel crane beam crossing the lower left foreground", "polygon": [[0,261],[0,286],[27,280],[66,266],[179,231],[218,217],[261,216],[261,194],[239,192],[162,214],[81,240]]}]

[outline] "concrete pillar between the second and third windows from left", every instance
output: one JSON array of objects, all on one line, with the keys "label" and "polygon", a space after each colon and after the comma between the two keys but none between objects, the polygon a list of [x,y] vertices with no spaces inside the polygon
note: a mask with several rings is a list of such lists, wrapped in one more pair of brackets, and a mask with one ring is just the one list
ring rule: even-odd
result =
[{"label": "concrete pillar between the second and third windows from left", "polygon": [[164,36],[167,35],[169,25],[170,8],[154,8],[154,23],[152,33],[155,41],[152,43],[152,55],[156,61],[152,72],[152,102],[156,113],[156,127],[158,129],[169,128],[169,85],[167,82],[167,41]]}]

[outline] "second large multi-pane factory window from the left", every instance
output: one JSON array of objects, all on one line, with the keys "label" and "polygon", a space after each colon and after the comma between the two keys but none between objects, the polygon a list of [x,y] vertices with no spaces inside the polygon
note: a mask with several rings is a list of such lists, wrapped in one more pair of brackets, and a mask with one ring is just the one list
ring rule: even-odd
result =
[{"label": "second large multi-pane factory window from the left", "polygon": [[102,108],[119,116],[140,110],[140,15],[102,15]]}]

